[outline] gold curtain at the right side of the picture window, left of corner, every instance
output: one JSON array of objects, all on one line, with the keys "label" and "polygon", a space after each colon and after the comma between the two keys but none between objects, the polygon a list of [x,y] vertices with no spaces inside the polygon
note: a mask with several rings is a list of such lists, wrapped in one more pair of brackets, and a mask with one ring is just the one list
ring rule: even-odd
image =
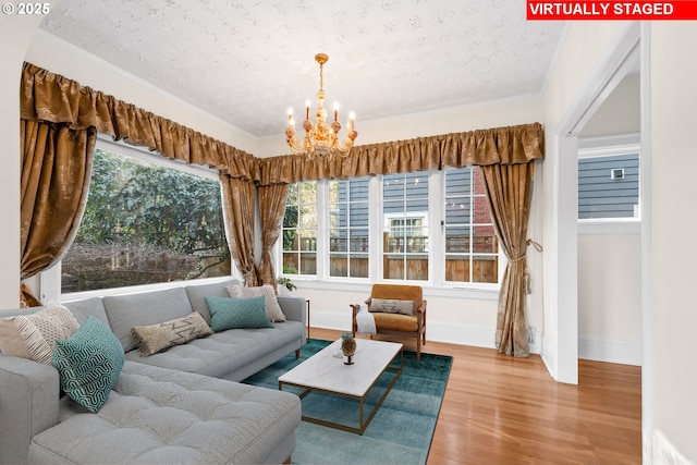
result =
[{"label": "gold curtain at the right side of the picture window, left of corner", "polygon": [[257,285],[254,264],[254,208],[256,188],[254,184],[220,174],[222,184],[222,208],[225,216],[228,245],[246,285]]}]

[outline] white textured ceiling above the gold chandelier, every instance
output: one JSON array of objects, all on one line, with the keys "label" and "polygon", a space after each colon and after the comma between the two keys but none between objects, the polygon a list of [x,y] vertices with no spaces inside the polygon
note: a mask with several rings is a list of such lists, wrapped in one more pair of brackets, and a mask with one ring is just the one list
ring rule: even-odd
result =
[{"label": "white textured ceiling above the gold chandelier", "polygon": [[[289,107],[360,120],[536,94],[562,32],[525,0],[60,0],[41,27],[255,135]],[[70,76],[69,76],[70,77]],[[119,97],[119,96],[115,96]]]}]

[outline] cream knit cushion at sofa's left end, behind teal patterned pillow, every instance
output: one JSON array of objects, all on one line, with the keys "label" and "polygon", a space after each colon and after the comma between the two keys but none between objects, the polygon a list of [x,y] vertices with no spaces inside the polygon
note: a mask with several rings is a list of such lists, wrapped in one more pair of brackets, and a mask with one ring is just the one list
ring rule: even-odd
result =
[{"label": "cream knit cushion at sofa's left end, behind teal patterned pillow", "polygon": [[75,317],[61,304],[51,304],[30,315],[2,318],[0,351],[50,365],[56,340],[70,338],[78,327]]}]

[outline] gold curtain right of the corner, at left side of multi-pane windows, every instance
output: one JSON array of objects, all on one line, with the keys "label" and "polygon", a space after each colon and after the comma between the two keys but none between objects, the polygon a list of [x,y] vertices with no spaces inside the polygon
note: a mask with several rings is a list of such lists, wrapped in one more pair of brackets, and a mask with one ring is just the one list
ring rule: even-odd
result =
[{"label": "gold curtain right of the corner, at left side of multi-pane windows", "polygon": [[261,262],[257,274],[260,281],[259,284],[273,284],[276,286],[271,247],[279,238],[283,224],[288,184],[259,186],[258,193],[261,216]]}]

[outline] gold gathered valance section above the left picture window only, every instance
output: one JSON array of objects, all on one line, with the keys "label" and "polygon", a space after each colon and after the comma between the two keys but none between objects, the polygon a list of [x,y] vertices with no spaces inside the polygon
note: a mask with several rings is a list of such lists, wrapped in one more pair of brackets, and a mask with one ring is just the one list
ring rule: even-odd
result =
[{"label": "gold gathered valance section above the left picture window only", "polygon": [[24,63],[20,105],[24,120],[63,124],[76,131],[95,127],[115,140],[145,146],[187,163],[207,164],[231,178],[258,178],[250,154],[32,63]]}]

